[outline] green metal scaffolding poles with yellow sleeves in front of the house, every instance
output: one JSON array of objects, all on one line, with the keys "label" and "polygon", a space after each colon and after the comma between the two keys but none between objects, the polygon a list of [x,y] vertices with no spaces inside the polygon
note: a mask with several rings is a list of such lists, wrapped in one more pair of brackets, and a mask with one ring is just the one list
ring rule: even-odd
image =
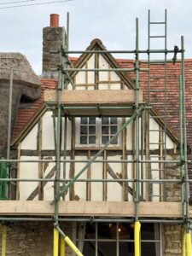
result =
[{"label": "green metal scaffolding poles with yellow sleeves in front of the house", "polygon": [[[159,26],[163,25],[165,27],[165,34],[161,36],[151,35],[151,26]],[[181,48],[178,49],[175,47],[174,49],[167,49],[166,44],[166,14],[165,20],[163,22],[153,22],[150,20],[150,11],[148,11],[148,49],[141,50],[139,49],[139,26],[138,26],[138,19],[136,20],[136,49],[134,50],[69,50],[68,49],[68,38],[69,38],[69,15],[67,15],[67,36],[63,40],[63,44],[61,45],[61,50],[59,51],[60,54],[60,66],[58,67],[59,72],[59,79],[58,85],[56,89],[56,102],[54,104],[47,103],[47,108],[53,111],[53,124],[54,124],[54,134],[55,134],[55,160],[0,160],[1,163],[17,163],[17,162],[38,162],[38,163],[45,163],[45,162],[55,162],[56,171],[55,171],[55,195],[54,200],[52,201],[52,205],[55,207],[55,214],[54,220],[53,218],[17,218],[17,217],[0,217],[1,221],[49,221],[54,222],[54,256],[58,256],[59,252],[59,235],[61,235],[61,255],[64,255],[65,251],[65,243],[69,247],[72,248],[73,252],[76,255],[83,255],[79,249],[73,244],[67,235],[61,230],[60,223],[61,222],[126,222],[126,223],[134,223],[135,224],[135,255],[141,255],[141,240],[140,240],[140,232],[142,229],[141,223],[172,223],[172,224],[183,224],[183,255],[185,255],[185,245],[186,245],[186,255],[191,255],[191,245],[190,245],[190,217],[189,217],[189,183],[192,180],[188,177],[188,159],[187,159],[187,136],[186,136],[186,110],[185,110],[185,74],[184,74],[184,38],[181,38]],[[151,49],[151,40],[152,38],[164,38],[164,48],[163,49]],[[135,55],[135,63],[134,67],[132,68],[78,68],[73,67],[72,62],[70,61],[69,55],[73,54],[134,54]],[[164,60],[163,61],[154,61],[151,60],[152,54],[163,54]],[[53,52],[53,54],[55,54]],[[56,53],[57,54],[57,53]],[[144,61],[148,65],[148,67],[140,67],[143,61],[140,61],[139,54],[147,54],[148,61]],[[167,54],[173,54],[172,63],[177,61],[177,55],[181,55],[181,65],[182,65],[182,73],[179,79],[179,119],[180,119],[180,159],[179,160],[169,160],[167,159],[167,150],[166,150],[166,137],[167,137],[167,100],[166,100],[166,70],[167,70]],[[154,64],[160,63],[164,66],[164,88],[163,89],[151,89],[151,76],[150,69],[151,66]],[[134,72],[135,73],[135,87],[134,87],[134,97],[135,102],[131,106],[99,106],[96,102],[94,106],[64,106],[61,101],[61,95],[63,91],[67,90],[68,85],[72,84],[73,81],[70,78],[70,73],[73,72]],[[139,75],[140,73],[148,73],[148,96],[146,102],[141,104],[140,102],[140,84],[139,84]],[[74,88],[73,88],[74,89]],[[149,123],[149,119],[153,118],[151,115],[151,110],[154,107],[154,103],[151,102],[151,94],[152,93],[162,92],[164,97],[164,115],[160,118],[164,119],[164,124],[160,128],[160,130],[155,130],[156,132],[160,132],[161,134],[161,141],[158,143],[161,154],[158,160],[153,160],[150,155],[150,144],[149,141],[150,132],[154,130],[148,129],[148,150],[145,152],[144,157],[144,129],[145,129],[145,121],[147,117],[147,122]],[[129,111],[131,116],[129,119],[125,120],[125,123],[119,127],[119,130],[110,138],[108,143],[106,143],[98,152],[90,158],[90,160],[67,160],[67,119],[74,118],[74,117],[81,117],[84,116],[84,113],[89,113],[89,110],[93,111],[94,116],[102,117],[102,116],[116,116],[122,117],[125,116],[122,114],[124,111]],[[99,111],[98,111],[99,109]],[[101,110],[101,111],[100,111]],[[108,115],[104,115],[102,111],[108,111]],[[121,114],[119,112],[122,112]],[[70,114],[73,113],[73,114]],[[65,126],[64,126],[64,153],[63,153],[63,160],[61,160],[61,117],[64,116],[65,119]],[[141,133],[139,128],[139,122],[141,118]],[[119,134],[124,131],[127,125],[130,125],[132,122],[135,122],[135,155],[133,160],[97,160],[97,158],[108,148],[108,145],[113,142],[113,140],[119,136]],[[141,143],[141,149],[140,149]],[[8,153],[9,155],[9,153]],[[74,176],[73,178],[66,178],[66,164],[67,163],[85,163],[85,166],[80,170],[80,172]],[[107,177],[102,179],[82,179],[80,176],[84,173],[92,163],[132,163],[135,166],[135,178],[126,178],[121,177],[118,179],[108,180]],[[61,163],[63,163],[63,178],[61,178]],[[160,173],[160,178],[154,181],[152,177],[152,164],[156,163],[159,165],[158,172]],[[166,166],[168,163],[178,164],[180,166],[181,176],[180,179],[169,179],[166,177]],[[148,178],[144,178],[143,176],[143,166],[148,166]],[[0,182],[4,183],[14,183],[14,182],[53,182],[53,178],[36,178],[36,179],[29,179],[29,178],[13,178],[13,177],[0,177]],[[88,182],[88,183],[96,183],[96,182],[121,182],[121,183],[134,183],[135,186],[135,213],[132,218],[61,218],[59,216],[59,205],[61,198],[65,199],[65,194],[67,190],[73,186],[76,182]],[[63,183],[63,189],[60,189],[60,183]],[[152,183],[159,183],[160,189],[163,191],[159,197],[160,201],[166,201],[166,184],[173,183],[173,184],[182,184],[182,205],[183,205],[183,218],[159,218],[154,219],[153,216],[151,218],[140,218],[139,217],[139,207],[140,207],[140,194],[142,195],[143,201],[143,194],[144,194],[144,187],[143,184],[148,183],[148,201],[152,201],[155,195],[152,194],[150,186]],[[6,232],[7,230],[5,227],[2,228],[3,230],[3,250],[2,255],[6,253]]]}]

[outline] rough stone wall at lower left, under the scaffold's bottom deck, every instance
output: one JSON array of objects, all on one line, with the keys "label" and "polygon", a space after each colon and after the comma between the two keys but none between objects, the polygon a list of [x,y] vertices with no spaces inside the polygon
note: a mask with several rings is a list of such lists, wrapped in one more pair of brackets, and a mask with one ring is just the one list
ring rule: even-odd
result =
[{"label": "rough stone wall at lower left, under the scaffold's bottom deck", "polygon": [[[61,224],[61,229],[72,237],[71,224]],[[0,252],[2,234],[0,233]],[[52,256],[53,224],[46,222],[12,223],[8,225],[7,256]],[[66,247],[66,256],[72,252]]]}]

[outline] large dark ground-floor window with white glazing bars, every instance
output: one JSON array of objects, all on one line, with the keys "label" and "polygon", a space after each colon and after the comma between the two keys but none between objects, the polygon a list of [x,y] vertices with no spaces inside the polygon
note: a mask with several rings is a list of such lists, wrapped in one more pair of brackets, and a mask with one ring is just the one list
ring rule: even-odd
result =
[{"label": "large dark ground-floor window with white glazing bars", "polygon": [[[161,256],[160,224],[142,224],[142,255]],[[134,225],[129,223],[80,223],[77,246],[84,256],[134,256]]]}]

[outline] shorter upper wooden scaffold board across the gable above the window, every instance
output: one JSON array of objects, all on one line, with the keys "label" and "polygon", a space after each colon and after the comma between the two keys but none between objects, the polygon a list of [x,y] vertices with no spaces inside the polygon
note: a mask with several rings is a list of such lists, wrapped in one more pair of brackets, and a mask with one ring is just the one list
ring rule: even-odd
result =
[{"label": "shorter upper wooden scaffold board across the gable above the window", "polygon": [[[56,102],[56,90],[44,90],[44,102]],[[103,104],[107,106],[127,106],[135,102],[134,90],[62,90],[61,103],[73,106]],[[139,92],[139,102],[143,102],[143,91]]]}]

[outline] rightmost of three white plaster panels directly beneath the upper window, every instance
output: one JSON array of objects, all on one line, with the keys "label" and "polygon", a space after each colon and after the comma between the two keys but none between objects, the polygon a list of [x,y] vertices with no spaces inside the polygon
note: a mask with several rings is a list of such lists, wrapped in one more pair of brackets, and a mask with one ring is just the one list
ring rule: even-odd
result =
[{"label": "rightmost of three white plaster panels directly beneath the upper window", "polygon": [[[121,156],[108,156],[108,160],[121,160]],[[121,163],[109,163],[109,166],[113,169],[115,174],[122,173],[122,164]],[[108,173],[108,179],[113,179],[111,175]],[[108,191],[108,201],[122,201],[122,186],[117,182],[109,182],[107,183],[107,191]]]}]

